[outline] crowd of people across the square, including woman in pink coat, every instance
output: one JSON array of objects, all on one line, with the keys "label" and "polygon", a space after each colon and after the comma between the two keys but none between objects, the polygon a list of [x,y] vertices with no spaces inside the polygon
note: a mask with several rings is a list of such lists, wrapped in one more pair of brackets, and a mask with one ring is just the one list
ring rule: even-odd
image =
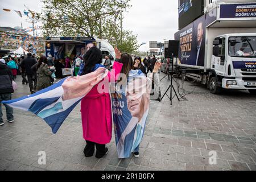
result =
[{"label": "crowd of people across the square, including woman in pink coat", "polygon": [[[40,56],[36,59],[31,53],[27,54],[27,57],[21,57],[20,60],[15,57],[9,57],[9,62],[0,59],[0,79],[4,80],[0,84],[0,102],[4,100],[11,100],[11,93],[14,92],[12,87],[12,81],[15,80],[17,72],[22,75],[22,84],[28,84],[30,92],[35,93],[39,90],[47,88],[53,84],[53,73],[57,78],[62,78],[62,68],[71,68],[71,65],[75,65],[74,68],[79,68],[77,74],[79,76],[87,75],[96,71],[100,67],[105,67],[110,73],[114,71],[114,75],[123,73],[129,77],[129,74],[133,74],[134,71],[139,70],[139,73],[143,73],[147,76],[147,73],[158,73],[160,68],[159,61],[155,56],[145,57],[143,60],[141,57],[132,57],[125,53],[122,54],[115,48],[116,60],[112,64],[109,57],[106,57],[106,61],[102,64],[102,53],[97,47],[91,46],[87,49],[83,59],[77,57],[75,61],[72,61],[69,57],[63,60],[55,60],[54,57],[49,55]],[[115,82],[117,79],[114,80]],[[147,97],[149,101],[149,98]],[[1,103],[0,103],[1,106]],[[6,114],[7,120],[13,122],[13,109],[7,105]],[[143,107],[143,106],[142,106]],[[96,109],[97,108],[97,109]],[[102,158],[102,156],[108,153],[106,144],[112,139],[112,105],[109,93],[99,93],[97,86],[94,86],[92,90],[81,101],[81,117],[82,117],[82,129],[84,139],[86,140],[86,146],[84,148],[84,155],[90,157],[94,154],[94,147],[96,147],[96,158]],[[0,107],[0,125],[3,125],[2,110]],[[139,156],[139,146],[134,150],[135,157]]]}]

